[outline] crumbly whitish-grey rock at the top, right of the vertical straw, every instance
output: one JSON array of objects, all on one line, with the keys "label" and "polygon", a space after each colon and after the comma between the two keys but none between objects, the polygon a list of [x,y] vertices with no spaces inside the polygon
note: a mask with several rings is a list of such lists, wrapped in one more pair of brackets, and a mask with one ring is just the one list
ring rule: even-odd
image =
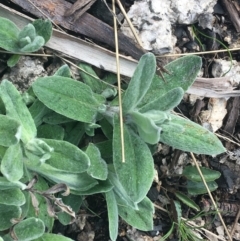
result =
[{"label": "crumbly whitish-grey rock at the top, right of the vertical straw", "polygon": [[[211,14],[216,0],[140,0],[135,1],[128,17],[136,28],[143,48],[155,54],[172,52],[176,37],[172,34],[174,24],[193,24],[200,15]],[[133,38],[125,21],[122,32]]]}]

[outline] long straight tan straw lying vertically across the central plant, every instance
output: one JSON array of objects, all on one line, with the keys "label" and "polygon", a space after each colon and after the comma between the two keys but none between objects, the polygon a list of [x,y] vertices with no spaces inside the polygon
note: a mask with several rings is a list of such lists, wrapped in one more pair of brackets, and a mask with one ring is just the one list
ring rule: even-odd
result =
[{"label": "long straight tan straw lying vertically across the central plant", "polygon": [[[112,0],[113,13],[116,15],[115,0]],[[121,135],[121,150],[122,162],[125,162],[125,147],[124,147],[124,133],[123,133],[123,111],[122,111],[122,95],[121,95],[121,78],[120,78],[120,64],[119,64],[119,51],[118,51],[118,34],[117,34],[117,20],[113,17],[114,23],[114,37],[116,48],[116,65],[117,65],[117,81],[118,81],[118,101],[119,101],[119,121],[120,121],[120,135]]]}]

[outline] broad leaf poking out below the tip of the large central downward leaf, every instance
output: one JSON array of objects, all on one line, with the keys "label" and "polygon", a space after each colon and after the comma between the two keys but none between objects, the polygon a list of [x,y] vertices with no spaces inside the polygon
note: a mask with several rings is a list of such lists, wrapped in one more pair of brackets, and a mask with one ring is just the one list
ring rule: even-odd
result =
[{"label": "broad leaf poking out below the tip of the large central downward leaf", "polygon": [[154,207],[152,202],[145,197],[137,206],[138,210],[118,205],[119,216],[134,228],[142,231],[153,230]]}]

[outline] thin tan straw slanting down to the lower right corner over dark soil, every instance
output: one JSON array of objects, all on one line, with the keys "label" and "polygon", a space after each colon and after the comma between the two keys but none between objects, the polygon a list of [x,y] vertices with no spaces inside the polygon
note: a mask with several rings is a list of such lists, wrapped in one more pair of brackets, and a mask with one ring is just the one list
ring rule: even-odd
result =
[{"label": "thin tan straw slanting down to the lower right corner over dark soil", "polygon": [[227,236],[228,236],[229,240],[232,241],[232,237],[231,237],[230,233],[228,232],[227,226],[226,226],[226,224],[225,224],[225,222],[224,222],[224,220],[223,220],[223,218],[222,218],[222,215],[221,215],[221,213],[220,213],[220,211],[219,211],[219,209],[218,209],[218,206],[217,206],[217,204],[216,204],[216,202],[215,202],[215,200],[214,200],[214,198],[213,198],[213,196],[212,196],[211,191],[210,191],[209,188],[208,188],[208,185],[207,185],[207,183],[206,183],[206,181],[205,181],[205,178],[204,178],[204,176],[203,176],[203,174],[202,174],[202,171],[201,171],[201,169],[200,169],[200,167],[199,167],[199,165],[198,165],[198,163],[197,163],[197,161],[196,161],[196,158],[195,158],[195,156],[193,155],[192,152],[191,152],[191,156],[192,156],[192,159],[193,159],[193,161],[194,161],[194,163],[195,163],[195,165],[196,165],[196,167],[197,167],[198,173],[199,173],[200,177],[202,178],[202,181],[203,181],[203,183],[204,183],[204,186],[205,186],[206,189],[207,189],[208,195],[209,195],[209,197],[210,197],[210,199],[211,199],[211,201],[212,201],[212,204],[213,204],[213,206],[214,206],[214,208],[215,208],[215,210],[216,210],[216,212],[217,212],[217,214],[218,214],[218,217],[219,217],[219,219],[220,219],[220,221],[221,221],[221,223],[222,223],[222,225],[223,225],[223,227],[224,227],[224,229],[225,229],[225,231],[226,231],[226,233],[227,233]]}]

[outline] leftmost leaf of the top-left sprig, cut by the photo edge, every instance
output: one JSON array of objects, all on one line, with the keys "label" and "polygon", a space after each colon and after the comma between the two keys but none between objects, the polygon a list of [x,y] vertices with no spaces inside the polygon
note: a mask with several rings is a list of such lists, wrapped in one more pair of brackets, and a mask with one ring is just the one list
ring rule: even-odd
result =
[{"label": "leftmost leaf of the top-left sprig, cut by the photo edge", "polygon": [[12,21],[0,18],[0,47],[11,52],[16,52],[19,49],[19,32],[19,28]]}]

